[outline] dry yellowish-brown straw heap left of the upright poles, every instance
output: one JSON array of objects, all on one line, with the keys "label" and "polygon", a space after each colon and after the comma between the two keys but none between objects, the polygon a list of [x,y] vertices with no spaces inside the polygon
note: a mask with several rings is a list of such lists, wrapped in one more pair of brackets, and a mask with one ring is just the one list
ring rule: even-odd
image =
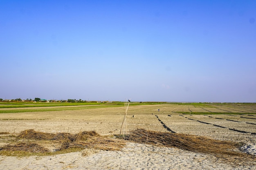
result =
[{"label": "dry yellowish-brown straw heap left of the upright poles", "polygon": [[[94,131],[70,133],[44,133],[36,132],[33,129],[20,132],[18,139],[27,139],[28,141],[18,144],[7,144],[0,148],[6,151],[28,151],[28,152],[50,152],[47,148],[36,144],[36,141],[48,140],[61,144],[56,150],[65,150],[69,148],[95,148],[100,150],[121,150],[125,146],[123,140],[108,139],[101,137]],[[31,141],[33,140],[33,142]]]}]

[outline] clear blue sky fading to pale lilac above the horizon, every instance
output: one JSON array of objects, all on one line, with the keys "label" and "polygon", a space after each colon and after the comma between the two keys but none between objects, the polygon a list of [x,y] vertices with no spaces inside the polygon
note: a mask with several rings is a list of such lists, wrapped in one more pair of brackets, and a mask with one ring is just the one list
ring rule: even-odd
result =
[{"label": "clear blue sky fading to pale lilac above the horizon", "polygon": [[256,102],[256,1],[0,1],[0,98]]}]

